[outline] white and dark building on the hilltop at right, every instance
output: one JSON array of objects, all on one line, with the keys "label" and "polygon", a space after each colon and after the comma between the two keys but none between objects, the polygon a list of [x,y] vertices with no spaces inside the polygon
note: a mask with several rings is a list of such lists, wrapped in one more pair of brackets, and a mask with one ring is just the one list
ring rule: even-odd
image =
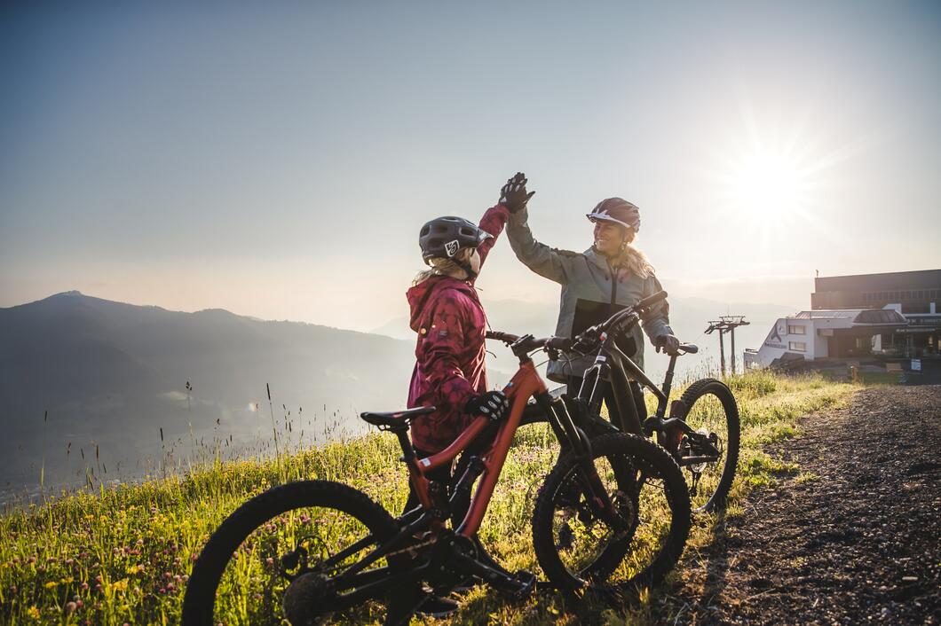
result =
[{"label": "white and dark building on the hilltop at right", "polygon": [[941,361],[941,270],[818,277],[810,310],[780,318],[745,367],[790,360]]}]

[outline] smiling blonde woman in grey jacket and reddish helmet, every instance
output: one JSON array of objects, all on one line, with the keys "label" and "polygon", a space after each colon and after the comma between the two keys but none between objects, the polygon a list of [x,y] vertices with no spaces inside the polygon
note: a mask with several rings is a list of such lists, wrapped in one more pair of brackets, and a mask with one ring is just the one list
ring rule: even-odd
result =
[{"label": "smiling blonde woman in grey jacket and reddish helmet", "polygon": [[[531,194],[532,195],[532,194]],[[635,305],[657,291],[661,284],[643,252],[631,243],[640,230],[640,210],[619,197],[598,203],[588,219],[594,224],[593,244],[584,252],[550,248],[537,242],[530,230],[526,206],[510,212],[506,235],[517,258],[536,274],[562,285],[562,298],[556,336],[575,336],[599,321],[604,321],[626,306]],[[679,341],[669,325],[669,305],[663,301],[651,307],[641,326],[658,352],[661,348],[676,353]],[[619,344],[638,367],[644,368],[644,336],[634,327],[632,336]],[[566,383],[570,393],[582,386],[585,369],[594,362],[594,355],[566,355],[566,359],[550,362],[547,375],[557,383]],[[646,417],[644,393],[636,382],[630,383],[641,421]],[[623,423],[614,408],[609,392],[605,398],[608,415],[620,430]]]}]

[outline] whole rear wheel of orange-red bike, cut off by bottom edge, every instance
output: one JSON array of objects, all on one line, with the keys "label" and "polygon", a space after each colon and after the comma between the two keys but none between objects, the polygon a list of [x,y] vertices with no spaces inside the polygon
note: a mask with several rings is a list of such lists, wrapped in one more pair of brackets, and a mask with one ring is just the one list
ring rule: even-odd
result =
[{"label": "whole rear wheel of orange-red bike, cut off by bottom edge", "polygon": [[[396,532],[385,509],[340,483],[306,480],[261,493],[226,518],[200,553],[186,586],[183,626],[284,624],[289,616],[295,626],[334,619],[396,623],[409,593],[390,593],[336,615],[330,606],[337,597],[331,578]],[[372,539],[360,541],[367,537]],[[363,544],[359,550],[318,568],[357,542]],[[366,571],[381,575],[383,566],[391,567],[385,558]]]}]

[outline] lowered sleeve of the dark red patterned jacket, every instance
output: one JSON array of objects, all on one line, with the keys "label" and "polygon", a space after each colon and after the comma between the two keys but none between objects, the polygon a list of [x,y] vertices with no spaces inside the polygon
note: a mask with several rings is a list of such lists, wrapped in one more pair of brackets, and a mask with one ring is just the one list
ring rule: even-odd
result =
[{"label": "lowered sleeve of the dark red patterned jacket", "polygon": [[[416,357],[431,388],[459,411],[476,392],[461,370],[458,355],[464,350],[464,330],[470,306],[460,294],[443,293],[423,323]],[[442,407],[439,407],[439,409]]]}]

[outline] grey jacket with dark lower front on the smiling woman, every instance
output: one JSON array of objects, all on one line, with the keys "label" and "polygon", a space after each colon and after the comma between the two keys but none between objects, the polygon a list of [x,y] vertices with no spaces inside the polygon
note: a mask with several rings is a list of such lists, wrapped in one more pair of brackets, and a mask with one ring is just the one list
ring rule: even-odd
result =
[{"label": "grey jacket with dark lower front on the smiling woman", "polygon": [[[607,258],[595,254],[592,249],[581,253],[571,252],[550,248],[545,243],[535,241],[527,224],[528,219],[526,209],[511,213],[506,235],[520,261],[536,274],[562,285],[556,336],[572,336],[576,311],[580,309],[581,316],[585,303],[630,306],[662,289],[660,281],[652,272],[641,275],[627,268],[613,268]],[[670,306],[664,300],[651,307],[642,319],[641,326],[651,341],[657,336],[673,334],[669,325],[669,312]],[[637,348],[631,360],[644,368],[644,336],[637,326],[632,333]],[[578,357],[567,354],[566,357],[550,361],[547,371],[550,380],[566,383],[567,376],[582,376],[582,372],[595,362],[594,355]]]}]

